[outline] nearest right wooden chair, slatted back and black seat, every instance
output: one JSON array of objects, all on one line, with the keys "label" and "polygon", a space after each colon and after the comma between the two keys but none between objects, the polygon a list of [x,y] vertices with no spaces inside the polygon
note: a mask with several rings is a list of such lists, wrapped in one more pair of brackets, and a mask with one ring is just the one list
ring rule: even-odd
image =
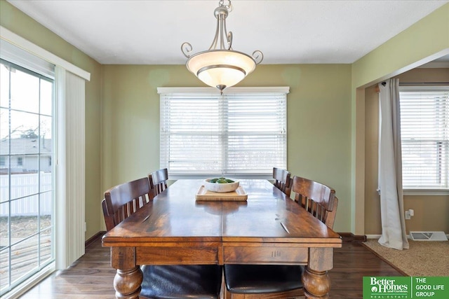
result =
[{"label": "nearest right wooden chair, slatted back and black seat", "polygon": [[[293,176],[295,201],[333,228],[338,199],[322,183]],[[304,296],[302,265],[225,265],[227,299],[281,299]]]}]

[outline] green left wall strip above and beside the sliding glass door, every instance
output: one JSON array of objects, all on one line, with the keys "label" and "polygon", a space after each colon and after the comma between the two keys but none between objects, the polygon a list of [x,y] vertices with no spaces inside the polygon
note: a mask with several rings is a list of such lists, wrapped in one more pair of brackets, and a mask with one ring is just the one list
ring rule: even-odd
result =
[{"label": "green left wall strip above and beside the sliding glass door", "polygon": [[0,25],[91,73],[86,81],[86,239],[100,230],[100,155],[102,65],[29,18],[17,8],[0,0]]}]

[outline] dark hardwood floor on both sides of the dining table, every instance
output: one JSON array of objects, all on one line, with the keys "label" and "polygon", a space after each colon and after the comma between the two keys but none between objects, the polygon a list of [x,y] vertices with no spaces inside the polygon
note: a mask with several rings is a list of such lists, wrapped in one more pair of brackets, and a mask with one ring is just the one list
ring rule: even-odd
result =
[{"label": "dark hardwood floor on both sides of the dining table", "polygon": [[[66,270],[53,273],[22,299],[106,299],[114,298],[115,270],[109,265],[109,248],[95,240],[86,254]],[[362,298],[363,276],[403,276],[384,263],[360,243],[344,242],[334,251],[334,268],[329,272],[332,281],[330,298]]]}]

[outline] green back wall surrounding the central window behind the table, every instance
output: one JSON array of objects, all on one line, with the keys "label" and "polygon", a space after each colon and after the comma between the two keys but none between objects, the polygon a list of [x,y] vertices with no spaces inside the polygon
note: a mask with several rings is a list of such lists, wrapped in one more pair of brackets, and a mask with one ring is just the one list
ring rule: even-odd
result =
[{"label": "green back wall surrounding the central window behind the table", "polygon": [[[105,65],[103,188],[159,168],[158,87],[203,86],[184,65]],[[333,186],[335,230],[351,225],[351,66],[260,65],[239,86],[289,86],[288,169]]]}]

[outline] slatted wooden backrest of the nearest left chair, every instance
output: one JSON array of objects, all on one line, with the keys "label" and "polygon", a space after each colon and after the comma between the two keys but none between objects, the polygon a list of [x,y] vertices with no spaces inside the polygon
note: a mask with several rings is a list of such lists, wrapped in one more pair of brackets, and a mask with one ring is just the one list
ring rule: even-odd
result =
[{"label": "slatted wooden backrest of the nearest left chair", "polygon": [[134,214],[154,197],[147,177],[122,183],[105,192],[102,200],[106,229],[111,230],[121,221]]}]

